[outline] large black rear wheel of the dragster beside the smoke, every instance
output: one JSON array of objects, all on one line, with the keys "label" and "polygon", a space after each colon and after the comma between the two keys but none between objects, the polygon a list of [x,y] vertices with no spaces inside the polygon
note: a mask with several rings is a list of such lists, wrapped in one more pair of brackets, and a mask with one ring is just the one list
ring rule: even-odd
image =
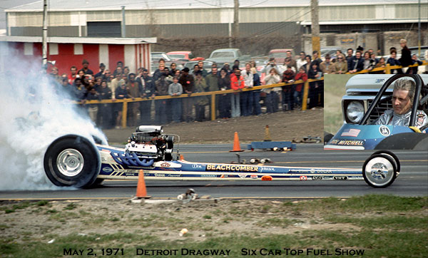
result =
[{"label": "large black rear wheel of the dragster beside the smoke", "polygon": [[95,145],[78,135],[56,139],[44,155],[46,175],[58,186],[89,187],[95,182],[100,167]]}]

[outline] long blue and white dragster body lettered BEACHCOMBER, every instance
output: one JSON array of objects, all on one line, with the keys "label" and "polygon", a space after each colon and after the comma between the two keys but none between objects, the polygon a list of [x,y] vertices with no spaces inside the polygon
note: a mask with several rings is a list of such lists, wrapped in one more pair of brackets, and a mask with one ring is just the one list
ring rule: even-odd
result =
[{"label": "long blue and white dragster body lettered BEACHCOMBER", "polygon": [[[97,145],[101,155],[101,179],[137,179],[141,171],[147,180],[362,180],[361,169],[332,167],[279,167],[185,160],[156,161],[151,166],[129,166],[117,162],[112,152],[124,149]],[[267,176],[267,177],[263,177]],[[264,178],[264,179],[263,179]]]}]

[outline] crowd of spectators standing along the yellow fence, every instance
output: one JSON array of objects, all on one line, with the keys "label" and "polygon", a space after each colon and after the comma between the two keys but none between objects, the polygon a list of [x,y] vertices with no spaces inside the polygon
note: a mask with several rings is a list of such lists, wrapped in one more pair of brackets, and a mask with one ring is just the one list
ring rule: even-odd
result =
[{"label": "crowd of spectators standing along the yellow fence", "polygon": [[[397,60],[397,50],[391,48],[391,56],[377,59],[372,49],[363,53],[357,48],[354,54],[352,48],[347,49],[347,56],[337,51],[335,56],[326,55],[323,61],[317,51],[312,56],[300,52],[299,58],[293,58],[287,51],[285,63],[275,63],[270,60],[260,69],[255,62],[245,63],[240,67],[235,61],[230,68],[228,63],[217,67],[215,63],[208,72],[200,61],[190,71],[189,68],[179,70],[175,63],[165,66],[161,59],[153,76],[146,68],[139,68],[137,73],[130,73],[130,69],[123,62],[116,63],[116,69],[110,71],[101,63],[98,73],[94,74],[88,68],[88,61],[83,60],[81,69],[71,66],[70,73],[58,75],[58,69],[51,69],[51,79],[61,85],[71,100],[77,100],[80,108],[85,110],[90,118],[101,128],[120,127],[123,115],[127,115],[129,126],[149,125],[152,123],[164,125],[203,121],[211,117],[209,108],[212,99],[210,96],[193,98],[174,98],[192,96],[193,93],[208,91],[234,90],[233,93],[219,94],[215,98],[216,118],[236,118],[239,116],[260,115],[262,105],[266,113],[275,113],[279,110],[295,110],[302,107],[303,83],[292,84],[295,81],[320,79],[324,74],[356,73],[362,70],[370,71],[373,68],[390,65],[410,65],[422,63],[416,56],[410,56],[405,40],[402,45],[402,58]],[[259,71],[258,71],[259,69]],[[380,71],[382,73],[383,71]],[[377,72],[379,73],[379,72]],[[403,73],[397,69],[394,73]],[[417,73],[416,68],[407,69],[406,73]],[[290,83],[286,86],[263,88],[263,90],[242,91],[244,88],[253,88],[260,85],[276,83]],[[307,96],[307,107],[323,106],[323,81],[311,81]],[[156,96],[171,96],[172,98],[155,100],[154,115],[152,115],[151,101]],[[123,103],[88,104],[87,100],[120,100],[124,98],[146,98],[146,101],[128,103],[127,113],[123,114]],[[260,101],[263,100],[263,101]]]}]

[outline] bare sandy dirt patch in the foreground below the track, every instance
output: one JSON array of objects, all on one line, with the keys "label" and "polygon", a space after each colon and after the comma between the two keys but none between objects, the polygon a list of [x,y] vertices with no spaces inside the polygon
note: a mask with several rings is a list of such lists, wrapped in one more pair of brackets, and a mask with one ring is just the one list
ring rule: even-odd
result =
[{"label": "bare sandy dirt patch in the foreground below the track", "polygon": [[[2,203],[0,207],[11,206]],[[298,234],[303,230],[336,230],[355,232],[360,228],[347,223],[330,223],[307,211],[297,211],[290,202],[272,200],[196,200],[144,205],[128,200],[53,201],[44,206],[31,205],[5,213],[0,227],[3,237],[16,237],[17,242],[52,237],[103,235],[121,232],[150,232],[163,240],[186,237],[203,241],[205,237],[224,235],[263,236]]]}]

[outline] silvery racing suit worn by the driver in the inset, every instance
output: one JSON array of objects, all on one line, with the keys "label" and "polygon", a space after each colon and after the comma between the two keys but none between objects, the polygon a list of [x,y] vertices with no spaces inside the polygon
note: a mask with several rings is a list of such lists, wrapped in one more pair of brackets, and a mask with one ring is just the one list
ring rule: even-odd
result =
[{"label": "silvery racing suit worn by the driver in the inset", "polygon": [[[379,119],[376,120],[374,124],[376,125],[404,125],[409,126],[410,123],[410,115],[412,115],[412,110],[409,110],[409,112],[398,115],[394,113],[394,110],[386,110],[385,113],[383,113]],[[415,126],[417,128],[422,128],[422,126],[427,125],[428,123],[428,117],[427,114],[424,113],[424,111],[417,110],[416,114],[416,120],[414,121]]]}]

